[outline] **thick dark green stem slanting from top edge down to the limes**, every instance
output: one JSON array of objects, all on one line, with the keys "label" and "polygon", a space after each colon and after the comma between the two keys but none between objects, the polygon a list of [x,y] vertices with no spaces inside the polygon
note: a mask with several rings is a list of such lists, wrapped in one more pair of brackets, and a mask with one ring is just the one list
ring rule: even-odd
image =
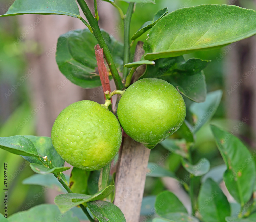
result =
[{"label": "thick dark green stem slanting from top edge down to the limes", "polygon": [[98,21],[96,21],[96,19],[94,18],[94,16],[92,15],[88,5],[86,4],[86,2],[84,0],[77,0],[78,4],[80,5],[84,15],[86,16],[91,28],[92,28],[92,33],[94,34],[95,38],[97,39],[100,48],[103,49],[103,53],[105,55],[106,61],[108,63],[109,69],[112,73],[113,79],[115,81],[115,85],[116,88],[118,90],[122,90],[124,88],[124,85],[122,83],[122,80],[119,76],[119,73],[116,69],[114,60],[112,58],[112,55],[109,51],[109,48],[102,36],[102,33],[100,31],[99,25],[98,25]]}]

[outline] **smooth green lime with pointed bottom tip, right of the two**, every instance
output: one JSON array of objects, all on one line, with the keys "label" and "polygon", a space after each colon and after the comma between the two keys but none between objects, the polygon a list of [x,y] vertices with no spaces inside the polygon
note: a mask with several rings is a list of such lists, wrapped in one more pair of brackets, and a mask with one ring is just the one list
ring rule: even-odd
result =
[{"label": "smooth green lime with pointed bottom tip, right of the two", "polygon": [[117,116],[128,136],[152,149],[182,125],[186,106],[173,85],[145,78],[126,89]]}]

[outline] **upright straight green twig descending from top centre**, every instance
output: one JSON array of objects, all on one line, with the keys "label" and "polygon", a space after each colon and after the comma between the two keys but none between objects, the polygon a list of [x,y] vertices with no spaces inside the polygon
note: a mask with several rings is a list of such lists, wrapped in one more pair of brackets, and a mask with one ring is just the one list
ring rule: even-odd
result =
[{"label": "upright straight green twig descending from top centre", "polygon": [[[129,55],[130,55],[130,25],[131,18],[134,9],[134,2],[130,2],[126,16],[124,18],[124,64],[129,63]],[[123,69],[123,80],[126,79],[128,75],[129,69],[124,67]]]}]

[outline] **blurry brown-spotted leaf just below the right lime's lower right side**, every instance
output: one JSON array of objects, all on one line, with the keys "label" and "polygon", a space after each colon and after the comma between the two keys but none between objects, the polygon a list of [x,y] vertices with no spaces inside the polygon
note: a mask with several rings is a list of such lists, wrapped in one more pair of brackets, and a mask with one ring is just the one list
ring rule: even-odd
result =
[{"label": "blurry brown-spotted leaf just below the right lime's lower right side", "polygon": [[188,158],[188,147],[185,139],[165,139],[160,143],[165,149],[170,150],[184,158]]}]

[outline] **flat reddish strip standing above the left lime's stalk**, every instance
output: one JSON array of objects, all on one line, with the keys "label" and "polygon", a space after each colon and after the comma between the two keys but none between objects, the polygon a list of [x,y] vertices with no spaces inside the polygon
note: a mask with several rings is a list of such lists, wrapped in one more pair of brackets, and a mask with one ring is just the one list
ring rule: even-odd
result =
[{"label": "flat reddish strip standing above the left lime's stalk", "polygon": [[[100,48],[99,44],[95,45],[94,49],[95,49],[96,60],[97,60],[97,65],[98,65],[100,81],[101,81],[101,85],[103,88],[103,92],[105,92],[105,91],[111,92],[110,84],[109,84],[109,75],[108,75],[108,71],[107,71],[107,68],[104,63],[103,49]],[[105,97],[105,94],[104,94],[104,97]],[[105,97],[105,99],[106,99],[106,97]],[[111,102],[112,102],[112,98],[111,98]]]}]

